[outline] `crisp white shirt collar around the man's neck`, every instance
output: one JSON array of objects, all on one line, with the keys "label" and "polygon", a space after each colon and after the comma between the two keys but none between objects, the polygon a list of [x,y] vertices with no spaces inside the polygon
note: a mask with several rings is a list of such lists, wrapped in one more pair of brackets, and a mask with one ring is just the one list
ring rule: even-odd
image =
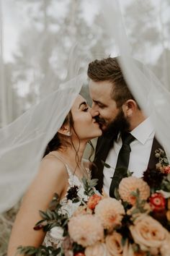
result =
[{"label": "crisp white shirt collar around the man's neck", "polygon": [[[154,129],[153,125],[151,124],[151,119],[148,117],[143,122],[141,122],[138,127],[135,127],[135,129],[133,129],[130,133],[135,137],[136,140],[144,145],[151,133],[153,133],[154,136]],[[120,140],[120,133],[117,135],[117,141],[118,140]]]}]

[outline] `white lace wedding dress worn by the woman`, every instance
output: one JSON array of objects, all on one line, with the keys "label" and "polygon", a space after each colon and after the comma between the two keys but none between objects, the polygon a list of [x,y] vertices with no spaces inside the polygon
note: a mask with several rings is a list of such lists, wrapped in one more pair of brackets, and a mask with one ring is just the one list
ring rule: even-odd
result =
[{"label": "white lace wedding dress worn by the woman", "polygon": [[[84,200],[87,199],[86,195],[84,195],[84,185],[79,180],[79,178],[72,173],[71,168],[64,163],[66,166],[66,170],[68,172],[68,189],[70,189],[73,186],[79,187],[78,195],[79,197],[83,198]],[[90,176],[89,168],[86,168],[87,174]],[[68,217],[70,218],[73,215],[73,212],[79,207],[81,202],[73,203],[71,200],[68,200],[65,197],[63,197],[60,201],[62,207],[61,211],[62,213],[67,213]],[[47,232],[43,244],[45,246],[51,246],[54,248],[58,248],[61,245],[63,239],[63,230],[61,227],[55,227]]]}]

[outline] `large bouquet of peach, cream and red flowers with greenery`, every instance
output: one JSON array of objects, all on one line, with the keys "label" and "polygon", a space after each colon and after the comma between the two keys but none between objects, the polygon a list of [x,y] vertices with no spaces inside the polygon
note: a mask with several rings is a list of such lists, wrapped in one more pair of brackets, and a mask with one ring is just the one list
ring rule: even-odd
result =
[{"label": "large bouquet of peach, cream and red flowers with greenery", "polygon": [[[143,179],[129,174],[115,190],[115,198],[97,195],[95,180],[84,179],[86,201],[71,218],[62,215],[58,196],[35,229],[62,230],[58,248],[19,247],[27,255],[70,256],[169,256],[170,255],[170,165],[164,150],[156,150],[158,163]],[[106,164],[107,165],[107,164]],[[107,165],[107,167],[109,167]],[[77,189],[68,198],[79,202]]]}]

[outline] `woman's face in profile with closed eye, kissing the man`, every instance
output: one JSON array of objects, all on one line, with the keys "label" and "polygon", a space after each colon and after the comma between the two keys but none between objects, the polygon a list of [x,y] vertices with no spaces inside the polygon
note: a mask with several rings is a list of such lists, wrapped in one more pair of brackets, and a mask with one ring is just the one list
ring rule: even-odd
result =
[{"label": "woman's face in profile with closed eye, kissing the man", "polygon": [[81,95],[78,95],[71,108],[73,127],[80,140],[90,140],[102,135],[99,124],[92,118],[90,107]]}]

